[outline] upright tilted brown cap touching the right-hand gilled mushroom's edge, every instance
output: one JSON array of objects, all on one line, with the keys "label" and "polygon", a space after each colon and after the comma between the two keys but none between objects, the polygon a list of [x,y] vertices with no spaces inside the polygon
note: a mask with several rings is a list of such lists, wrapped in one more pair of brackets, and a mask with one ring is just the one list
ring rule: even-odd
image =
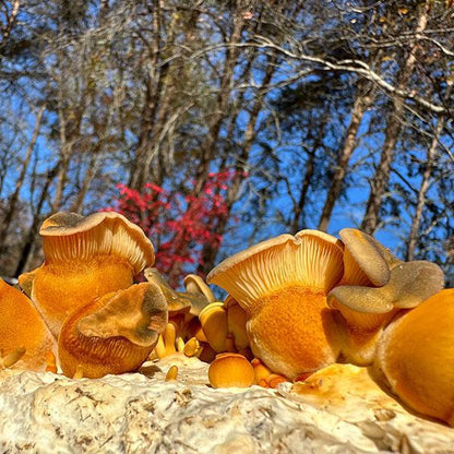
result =
[{"label": "upright tilted brown cap touching the right-hand gilled mushroom's edge", "polygon": [[345,246],[342,284],[385,285],[390,279],[390,268],[378,241],[355,228],[344,228],[339,236]]}]

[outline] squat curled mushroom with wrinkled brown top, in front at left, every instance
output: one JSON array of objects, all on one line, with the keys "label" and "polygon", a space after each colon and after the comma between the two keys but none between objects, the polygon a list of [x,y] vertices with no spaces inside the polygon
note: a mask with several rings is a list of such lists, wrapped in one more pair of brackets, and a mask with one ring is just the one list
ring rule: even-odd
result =
[{"label": "squat curled mushroom with wrinkled brown top, in front at left", "polygon": [[138,370],[167,325],[167,302],[159,287],[142,283],[112,291],[77,308],[58,340],[61,369],[73,377]]}]

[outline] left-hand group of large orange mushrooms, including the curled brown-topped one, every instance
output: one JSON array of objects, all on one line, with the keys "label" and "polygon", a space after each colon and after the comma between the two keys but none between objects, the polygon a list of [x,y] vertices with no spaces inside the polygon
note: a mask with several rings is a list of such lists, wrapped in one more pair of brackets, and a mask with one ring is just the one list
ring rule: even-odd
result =
[{"label": "left-hand group of large orange mushrooms, including the curled brown-topped one", "polygon": [[[9,289],[10,300],[24,308],[19,316],[19,306],[0,299],[8,312],[3,320],[14,320],[17,330],[9,347],[25,344],[24,363],[19,366],[43,370],[44,350],[50,350],[58,354],[68,377],[138,370],[167,324],[167,300],[160,288],[134,284],[134,276],[154,262],[151,241],[117,213],[87,217],[57,213],[44,222],[39,234],[45,262],[19,278],[34,306],[19,290]],[[40,350],[32,340],[25,343],[24,332]]]}]

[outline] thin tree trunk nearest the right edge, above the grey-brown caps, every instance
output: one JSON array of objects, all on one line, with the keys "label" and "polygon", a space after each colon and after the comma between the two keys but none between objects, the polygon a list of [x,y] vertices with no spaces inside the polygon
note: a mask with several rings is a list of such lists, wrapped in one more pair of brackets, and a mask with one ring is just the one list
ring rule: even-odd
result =
[{"label": "thin tree trunk nearest the right edge, above the grey-brown caps", "polygon": [[[451,93],[452,93],[452,88],[453,88],[453,82],[451,81],[449,83],[449,86],[446,88],[446,93],[444,96],[444,101],[447,103],[450,97],[451,97]],[[419,234],[419,226],[421,224],[421,219],[422,219],[422,211],[426,206],[426,194],[427,191],[429,190],[430,187],[430,180],[431,180],[431,176],[432,176],[432,169],[433,169],[433,165],[435,162],[435,155],[437,155],[437,147],[439,145],[439,141],[440,141],[440,135],[443,131],[444,128],[444,122],[445,122],[445,117],[441,116],[439,118],[439,121],[437,123],[437,128],[433,134],[433,139],[432,139],[432,143],[430,144],[430,147],[427,152],[427,157],[426,157],[426,163],[425,163],[425,171],[422,174],[422,181],[421,181],[421,187],[419,189],[419,193],[418,193],[418,200],[416,203],[416,208],[415,208],[415,215],[411,219],[411,229],[410,229],[410,235],[408,238],[408,246],[407,246],[407,256],[406,260],[410,261],[410,260],[415,260],[415,250],[418,243],[418,234]]]}]

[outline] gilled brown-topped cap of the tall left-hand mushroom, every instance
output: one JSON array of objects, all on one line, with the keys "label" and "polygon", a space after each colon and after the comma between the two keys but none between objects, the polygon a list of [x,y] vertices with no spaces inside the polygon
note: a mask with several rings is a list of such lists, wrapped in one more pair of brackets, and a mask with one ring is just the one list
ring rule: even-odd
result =
[{"label": "gilled brown-topped cap of the tall left-hand mushroom", "polygon": [[87,217],[56,213],[43,223],[39,235],[48,263],[113,255],[126,259],[133,273],[139,274],[155,260],[153,244],[143,230],[113,212]]}]

